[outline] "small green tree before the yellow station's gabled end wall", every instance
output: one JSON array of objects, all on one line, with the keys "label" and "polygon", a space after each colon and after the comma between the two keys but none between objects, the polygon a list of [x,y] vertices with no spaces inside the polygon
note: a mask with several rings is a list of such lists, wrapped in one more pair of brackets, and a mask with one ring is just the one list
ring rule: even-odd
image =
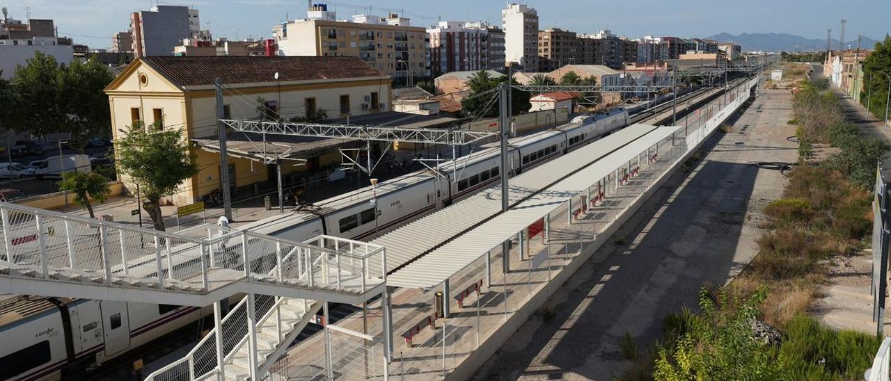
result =
[{"label": "small green tree before the yellow station's gabled end wall", "polygon": [[165,230],[160,200],[176,192],[181,182],[198,174],[195,157],[183,138],[182,129],[163,130],[157,124],[137,122],[116,144],[118,167],[143,195],[143,209],[156,230]]}]

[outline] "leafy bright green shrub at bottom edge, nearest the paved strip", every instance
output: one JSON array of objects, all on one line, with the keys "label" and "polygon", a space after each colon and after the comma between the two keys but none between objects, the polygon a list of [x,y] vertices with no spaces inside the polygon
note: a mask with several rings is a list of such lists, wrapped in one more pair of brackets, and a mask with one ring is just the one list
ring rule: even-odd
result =
[{"label": "leafy bright green shrub at bottom edge, nearest the paved strip", "polygon": [[773,380],[782,379],[782,361],[771,345],[752,334],[757,306],[767,297],[762,286],[748,299],[728,296],[722,290],[713,300],[699,291],[699,315],[686,315],[688,331],[674,348],[658,352],[653,377],[659,381]]}]

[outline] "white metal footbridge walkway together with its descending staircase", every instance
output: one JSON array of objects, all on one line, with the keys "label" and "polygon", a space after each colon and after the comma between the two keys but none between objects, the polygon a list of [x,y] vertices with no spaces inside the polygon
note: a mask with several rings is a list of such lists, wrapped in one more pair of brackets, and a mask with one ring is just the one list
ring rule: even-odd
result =
[{"label": "white metal footbridge walkway together with its descending staircase", "polygon": [[[328,302],[388,298],[384,247],[361,241],[209,224],[168,233],[4,202],[0,224],[4,292],[214,305],[215,328],[150,380],[262,379],[320,309],[327,321]],[[220,300],[236,294],[223,317]]]}]

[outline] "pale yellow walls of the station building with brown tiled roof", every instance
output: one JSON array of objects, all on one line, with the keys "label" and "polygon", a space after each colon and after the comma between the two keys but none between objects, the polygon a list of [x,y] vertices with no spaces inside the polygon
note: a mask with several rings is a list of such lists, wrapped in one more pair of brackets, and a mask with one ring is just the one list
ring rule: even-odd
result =
[{"label": "pale yellow walls of the station building with brown tiled roof", "polygon": [[[146,124],[155,122],[153,109],[161,109],[164,126],[184,128],[184,139],[217,136],[217,101],[213,90],[184,92],[142,62],[136,61],[133,65],[125,69],[106,89],[109,94],[112,136],[115,140],[119,139],[119,130],[127,131],[132,126],[131,109],[134,108],[140,110],[140,117]],[[143,76],[144,80],[141,80]],[[385,104],[380,110],[391,109],[389,84],[388,77],[281,85],[269,82],[265,85],[238,88],[237,95],[234,91],[227,91],[224,104],[229,106],[230,118],[254,119],[257,118],[257,97],[262,97],[265,101],[279,101],[282,116],[292,118],[305,116],[306,99],[315,98],[316,109],[326,110],[328,118],[339,118],[346,115],[340,113],[340,95],[349,95],[348,114],[356,116],[379,111],[372,109],[370,101],[365,101],[365,96],[370,96],[372,92],[378,93],[379,101]],[[369,107],[364,109],[363,103],[369,103]],[[192,153],[197,158],[200,172],[191,180],[183,182],[179,191],[169,198],[175,205],[191,204],[220,188],[218,154],[200,149],[193,149]],[[319,165],[323,167],[339,162],[340,156],[336,150],[319,159]],[[262,162],[255,161],[251,164],[249,159],[230,157],[228,163],[235,166],[236,188],[268,179],[266,166]],[[297,171],[306,171],[306,167],[282,166],[283,174]],[[128,183],[127,176],[119,178]],[[127,188],[135,187],[130,185]]]}]

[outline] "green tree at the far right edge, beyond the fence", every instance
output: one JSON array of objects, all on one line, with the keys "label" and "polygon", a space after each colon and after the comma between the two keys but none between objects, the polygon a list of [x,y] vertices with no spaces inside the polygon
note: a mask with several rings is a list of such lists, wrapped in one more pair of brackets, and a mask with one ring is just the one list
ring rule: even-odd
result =
[{"label": "green tree at the far right edge, beyond the fence", "polygon": [[891,75],[891,36],[885,36],[884,41],[876,43],[875,50],[863,61],[863,91],[860,94],[860,101],[864,106],[870,106],[872,115],[884,119],[888,77],[879,71]]}]

